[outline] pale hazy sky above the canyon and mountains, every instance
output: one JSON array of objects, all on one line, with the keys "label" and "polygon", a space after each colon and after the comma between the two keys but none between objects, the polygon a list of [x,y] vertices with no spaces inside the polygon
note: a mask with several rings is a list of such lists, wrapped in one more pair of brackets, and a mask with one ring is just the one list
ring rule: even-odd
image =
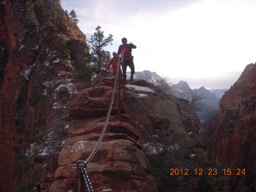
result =
[{"label": "pale hazy sky above the canyon and mountains", "polygon": [[[255,0],[62,0],[87,39],[97,26],[126,37],[135,71],[150,70],[191,88],[230,88],[256,62]],[[128,67],[129,69],[129,67]]]}]

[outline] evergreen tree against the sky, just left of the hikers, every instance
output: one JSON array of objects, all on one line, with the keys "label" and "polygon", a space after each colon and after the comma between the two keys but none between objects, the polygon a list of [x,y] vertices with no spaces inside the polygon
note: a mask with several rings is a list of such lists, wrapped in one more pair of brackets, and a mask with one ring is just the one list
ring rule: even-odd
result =
[{"label": "evergreen tree against the sky, just left of the hikers", "polygon": [[89,49],[90,54],[87,54],[88,63],[91,62],[96,73],[106,68],[107,63],[110,60],[110,52],[104,50],[105,46],[112,45],[113,35],[110,34],[107,38],[104,38],[104,31],[101,30],[101,26],[98,26],[96,32],[90,37]]}]

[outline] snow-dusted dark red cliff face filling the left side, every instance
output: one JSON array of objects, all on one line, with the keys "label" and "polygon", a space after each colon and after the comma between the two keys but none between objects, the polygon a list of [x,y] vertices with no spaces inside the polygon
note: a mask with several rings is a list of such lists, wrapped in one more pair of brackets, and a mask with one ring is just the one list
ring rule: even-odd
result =
[{"label": "snow-dusted dark red cliff face filling the left side", "polygon": [[[53,11],[54,10],[54,11]],[[58,1],[0,2],[0,190],[53,182],[86,37]],[[82,50],[84,51],[84,50]]]}]

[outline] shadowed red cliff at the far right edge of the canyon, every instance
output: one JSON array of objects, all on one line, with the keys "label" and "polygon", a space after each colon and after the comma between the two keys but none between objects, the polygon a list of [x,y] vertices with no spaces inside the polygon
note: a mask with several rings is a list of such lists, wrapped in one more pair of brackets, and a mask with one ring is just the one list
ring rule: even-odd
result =
[{"label": "shadowed red cliff at the far right edge of the canyon", "polygon": [[[256,159],[256,65],[246,66],[241,77],[222,97],[214,138],[212,160],[225,168],[246,169],[246,176],[228,179],[232,191],[255,191]],[[252,190],[254,189],[254,190]]]}]

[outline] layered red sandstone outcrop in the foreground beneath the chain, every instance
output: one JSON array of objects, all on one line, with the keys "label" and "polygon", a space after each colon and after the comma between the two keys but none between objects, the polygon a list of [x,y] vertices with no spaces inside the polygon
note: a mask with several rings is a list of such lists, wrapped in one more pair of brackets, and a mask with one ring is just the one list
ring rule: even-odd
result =
[{"label": "layered red sandstone outcrop in the foreground beneath the chain", "polygon": [[[105,121],[110,95],[109,86],[97,86],[75,94],[70,101],[70,137],[66,138],[59,156],[51,191],[62,191],[58,189],[63,178],[70,182],[77,177],[76,162],[85,160],[93,150]],[[117,109],[118,104],[115,102],[114,105]],[[102,109],[101,112],[98,108]],[[94,189],[157,191],[154,178],[147,174],[150,163],[140,150],[139,131],[129,116],[122,114],[122,119],[125,121],[117,121],[116,115],[112,114],[105,138],[92,163],[87,166]]]}]

